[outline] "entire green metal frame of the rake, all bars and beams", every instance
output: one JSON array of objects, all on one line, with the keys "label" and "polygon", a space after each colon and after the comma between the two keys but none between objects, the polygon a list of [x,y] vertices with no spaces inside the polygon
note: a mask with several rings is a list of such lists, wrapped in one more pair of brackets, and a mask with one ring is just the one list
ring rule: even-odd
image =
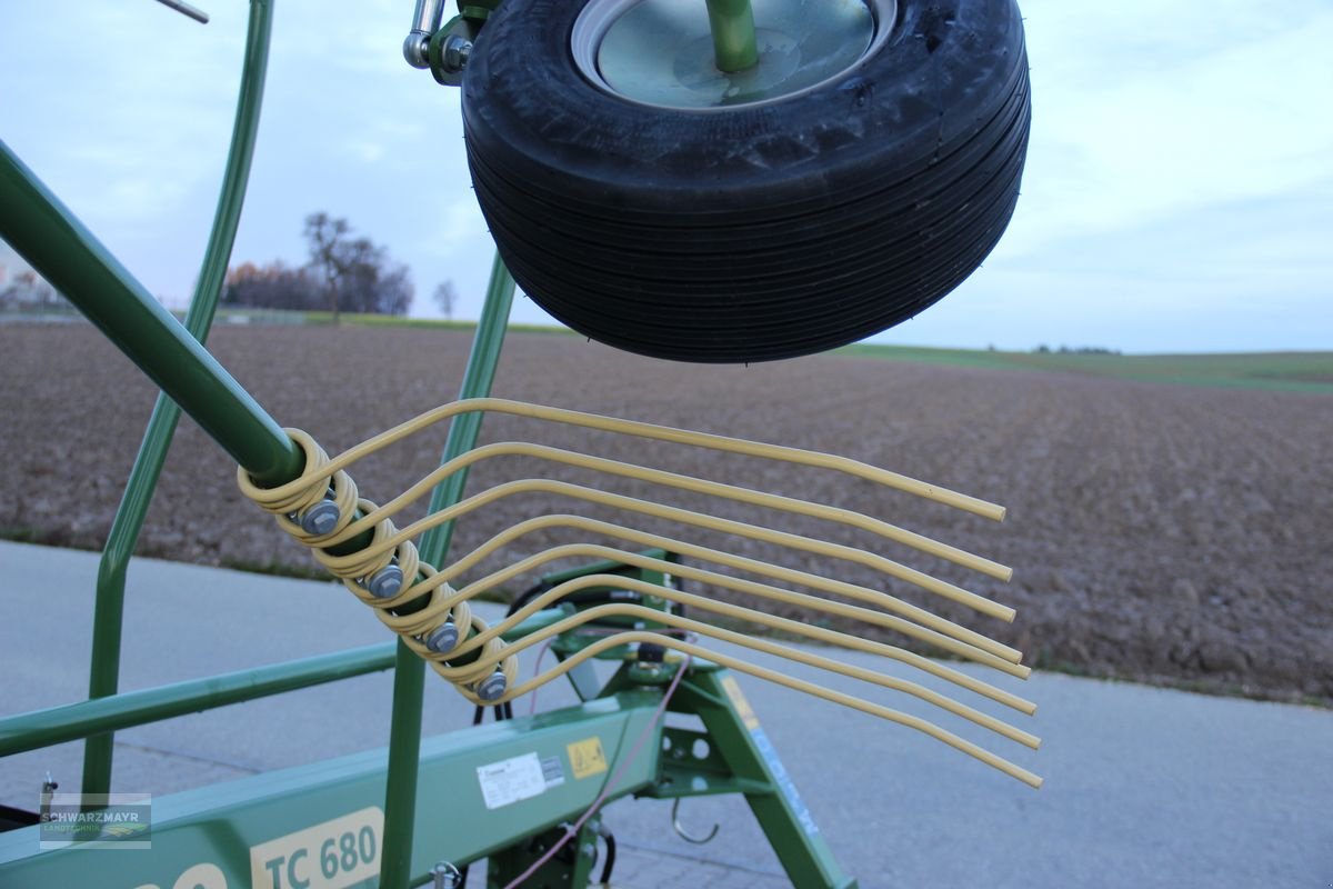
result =
[{"label": "entire green metal frame of the rake, all bars and beams", "polygon": [[[335,880],[336,885],[355,881],[405,889],[428,882],[431,868],[440,860],[464,864],[485,856],[491,856],[493,878],[504,880],[507,874],[517,876],[531,861],[529,838],[540,838],[575,820],[605,790],[608,801],[629,794],[668,798],[742,793],[793,884],[854,886],[829,853],[753,713],[728,685],[725,672],[710,664],[692,664],[670,702],[673,710],[698,714],[705,726],[702,733],[664,728],[653,721],[673,669],[639,664],[628,649],[608,653],[625,662],[604,686],[592,684],[587,674],[580,681],[577,670],[571,676],[584,700],[577,706],[425,741],[421,738],[425,665],[401,642],[156,689],[117,692],[125,569],[180,411],[189,413],[261,484],[289,481],[303,469],[295,443],[203,345],[236,236],[253,155],[272,7],[272,0],[251,0],[232,144],[184,327],[0,143],[0,236],[163,389],[103,553],[89,700],[0,718],[0,756],[85,738],[83,789],[105,793],[112,786],[116,730],[393,668],[389,746],[159,798],[151,854],[107,860],[89,857],[81,849],[43,852],[36,826],[3,832],[0,885],[7,889],[84,885],[88,868],[96,866],[100,885],[213,889],[253,881],[253,885],[301,889],[300,881],[311,873],[309,868],[329,864],[327,854],[320,857],[328,852],[321,830],[335,832],[337,841],[348,834],[365,844],[352,856],[351,870],[339,872],[341,865],[333,862],[335,876],[325,873],[325,885],[333,885],[328,881]],[[491,392],[513,292],[513,279],[497,257],[461,399]],[[480,413],[457,417],[443,460],[473,448],[481,421]],[[432,512],[457,502],[465,482],[467,473],[460,472],[437,486]],[[432,564],[444,562],[452,533],[451,522],[427,534],[421,541],[423,557]],[[364,541],[351,541],[347,546],[359,545]],[[604,573],[607,568],[591,565],[579,573]],[[568,578],[568,573],[560,578]],[[666,582],[660,574],[645,580]],[[665,606],[665,600],[661,605]],[[535,632],[565,617],[572,608],[565,604],[535,614],[507,636]],[[577,645],[579,640],[569,637],[555,648],[557,656],[567,656]],[[644,732],[648,741],[628,761],[627,750]],[[694,757],[689,752],[696,738],[708,741],[706,756]],[[573,745],[595,740],[604,752],[605,768],[576,774],[571,760]],[[555,764],[552,774],[560,780],[552,780],[531,798],[488,808],[477,769],[532,754],[544,768]],[[604,782],[617,773],[617,785],[605,788]],[[419,788],[428,792],[419,794]],[[437,817],[441,812],[465,817]],[[588,822],[595,824],[595,820]],[[556,866],[563,868],[561,881],[577,888],[587,885],[592,864],[580,853],[568,866]]]}]

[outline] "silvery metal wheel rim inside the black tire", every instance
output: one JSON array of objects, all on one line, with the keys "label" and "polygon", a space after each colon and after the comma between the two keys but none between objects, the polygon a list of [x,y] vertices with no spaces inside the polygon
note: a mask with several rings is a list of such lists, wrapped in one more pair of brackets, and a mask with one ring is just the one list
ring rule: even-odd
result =
[{"label": "silvery metal wheel rim inside the black tire", "polygon": [[788,99],[834,80],[888,40],[897,0],[752,0],[758,64],[713,64],[702,0],[589,0],[571,32],[575,64],[636,104],[725,111]]}]

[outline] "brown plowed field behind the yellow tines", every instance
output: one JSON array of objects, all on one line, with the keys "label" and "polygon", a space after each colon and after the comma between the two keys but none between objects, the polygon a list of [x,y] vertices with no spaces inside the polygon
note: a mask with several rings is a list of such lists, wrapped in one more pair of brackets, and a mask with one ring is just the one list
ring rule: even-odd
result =
[{"label": "brown plowed field behind the yellow tines", "polygon": [[[352,327],[224,327],[212,337],[219,359],[281,424],[309,431],[329,452],[452,400],[469,343],[449,331]],[[9,536],[100,546],[153,387],[84,324],[0,327],[0,526]],[[511,336],[496,395],[842,453],[1001,502],[1009,517],[994,524],[826,470],[503,416],[489,417],[483,432],[487,441],[587,449],[848,506],[1012,565],[1014,578],[992,581],[836,524],[774,518],[533,460],[484,462],[469,490],[553,477],[769,521],[874,549],[1013,605],[1018,618],[1005,625],[888,585],[1018,645],[1037,665],[1333,701],[1333,397],[845,356],[692,367],[543,335]],[[359,468],[363,494],[389,498],[435,465],[443,441],[439,429]],[[140,550],[203,564],[309,566],[241,500],[235,470],[183,421]],[[508,498],[460,524],[456,552],[544,512],[600,514],[555,496]],[[665,522],[628,524],[885,586],[845,562]],[[521,546],[536,552],[572,540],[551,532]]]}]

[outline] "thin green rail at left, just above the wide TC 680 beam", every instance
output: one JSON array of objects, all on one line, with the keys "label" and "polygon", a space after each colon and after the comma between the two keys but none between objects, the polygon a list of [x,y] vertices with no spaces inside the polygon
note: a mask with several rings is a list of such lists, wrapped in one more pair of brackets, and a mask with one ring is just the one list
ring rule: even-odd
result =
[{"label": "thin green rail at left, just above the wide TC 680 beam", "polygon": [[135,725],[160,722],[312,685],[377,673],[393,666],[393,642],[319,654],[201,680],[124,692],[0,720],[0,756],[77,741]]}]

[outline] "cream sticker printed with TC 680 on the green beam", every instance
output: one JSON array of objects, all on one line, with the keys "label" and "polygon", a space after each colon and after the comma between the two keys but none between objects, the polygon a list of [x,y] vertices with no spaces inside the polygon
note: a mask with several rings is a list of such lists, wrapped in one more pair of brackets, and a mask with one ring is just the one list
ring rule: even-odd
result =
[{"label": "cream sticker printed with TC 680 on the green beam", "polygon": [[380,873],[383,836],[384,810],[368,806],[251,846],[251,886],[343,889],[359,884]]}]

